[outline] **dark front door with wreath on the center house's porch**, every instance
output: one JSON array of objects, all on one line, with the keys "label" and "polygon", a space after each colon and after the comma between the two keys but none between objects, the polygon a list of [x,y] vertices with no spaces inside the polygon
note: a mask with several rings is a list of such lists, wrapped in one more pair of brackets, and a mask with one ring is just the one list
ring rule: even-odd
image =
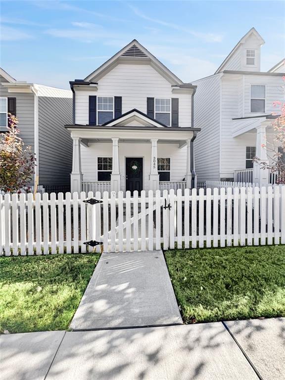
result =
[{"label": "dark front door with wreath on the center house's porch", "polygon": [[142,191],[142,157],[126,157],[126,190]]}]

